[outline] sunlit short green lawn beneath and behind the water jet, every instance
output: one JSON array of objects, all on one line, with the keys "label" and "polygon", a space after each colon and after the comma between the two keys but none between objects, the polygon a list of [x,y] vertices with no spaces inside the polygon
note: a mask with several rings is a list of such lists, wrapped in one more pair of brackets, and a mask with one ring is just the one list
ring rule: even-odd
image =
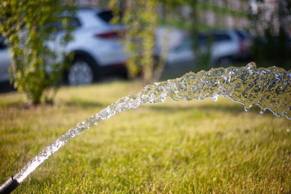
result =
[{"label": "sunlit short green lawn beneath and behind the water jet", "polygon": [[[0,94],[0,183],[68,129],[141,86],[63,87],[53,106]],[[74,137],[19,194],[291,193],[291,121],[258,107],[173,102],[126,110]]]}]

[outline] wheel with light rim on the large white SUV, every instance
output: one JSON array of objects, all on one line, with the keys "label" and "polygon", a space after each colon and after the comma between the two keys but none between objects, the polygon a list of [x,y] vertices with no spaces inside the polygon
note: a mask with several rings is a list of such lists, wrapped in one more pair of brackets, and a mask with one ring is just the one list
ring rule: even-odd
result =
[{"label": "wheel with light rim on the large white SUV", "polygon": [[93,83],[94,74],[91,65],[81,58],[74,59],[68,71],[69,85],[88,85]]}]

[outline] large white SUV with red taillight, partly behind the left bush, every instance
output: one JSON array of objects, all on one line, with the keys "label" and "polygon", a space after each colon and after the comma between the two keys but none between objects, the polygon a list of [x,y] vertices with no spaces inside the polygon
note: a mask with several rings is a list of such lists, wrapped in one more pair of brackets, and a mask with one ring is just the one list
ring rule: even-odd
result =
[{"label": "large white SUV with red taillight, partly behind the left bush", "polygon": [[[57,32],[52,34],[54,41],[45,43],[57,55],[57,61],[64,60],[63,53],[68,56],[73,53],[73,61],[69,70],[65,72],[64,79],[70,85],[90,84],[100,77],[111,74],[126,74],[124,66],[128,54],[120,44],[121,34],[125,28],[121,24],[111,24],[112,11],[105,9],[79,9],[74,16],[67,16],[69,26],[74,27],[73,41],[65,47],[60,44],[65,31],[62,22],[56,22]],[[0,50],[1,80],[9,75],[7,67],[10,59],[7,48]],[[47,71],[51,71],[49,66]],[[0,80],[0,81],[1,81]]]}]

